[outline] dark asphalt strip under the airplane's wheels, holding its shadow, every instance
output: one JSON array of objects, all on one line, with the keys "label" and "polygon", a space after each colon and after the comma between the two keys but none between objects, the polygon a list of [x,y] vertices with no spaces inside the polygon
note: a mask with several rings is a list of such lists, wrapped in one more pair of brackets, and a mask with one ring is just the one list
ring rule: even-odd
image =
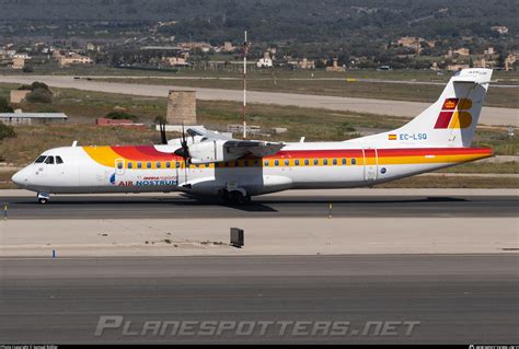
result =
[{"label": "dark asphalt strip under the airplane's wheels, holding its shadow", "polygon": [[284,218],[326,217],[517,217],[519,196],[260,196],[243,207],[216,199],[169,196],[55,196],[46,205],[36,197],[7,196],[9,219],[137,219],[137,218]]}]

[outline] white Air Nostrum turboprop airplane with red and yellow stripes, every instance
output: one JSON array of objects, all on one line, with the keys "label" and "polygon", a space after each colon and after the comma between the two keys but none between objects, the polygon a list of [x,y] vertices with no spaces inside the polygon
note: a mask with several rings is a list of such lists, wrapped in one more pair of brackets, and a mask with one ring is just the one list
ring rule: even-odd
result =
[{"label": "white Air Nostrum turboprop airplane with red and yellow stripes", "polygon": [[205,129],[161,146],[65,147],[13,175],[50,194],[185,191],[245,203],[286,189],[371,186],[492,155],[471,148],[491,69],[458,71],[439,100],[399,129],[339,142],[235,140]]}]

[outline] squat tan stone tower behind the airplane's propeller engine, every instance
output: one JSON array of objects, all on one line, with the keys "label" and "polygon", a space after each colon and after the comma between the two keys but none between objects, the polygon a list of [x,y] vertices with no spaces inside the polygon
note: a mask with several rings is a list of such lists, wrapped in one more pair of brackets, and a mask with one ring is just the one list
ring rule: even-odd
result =
[{"label": "squat tan stone tower behind the airplane's propeller engine", "polygon": [[170,125],[196,125],[196,92],[170,91],[166,120]]}]

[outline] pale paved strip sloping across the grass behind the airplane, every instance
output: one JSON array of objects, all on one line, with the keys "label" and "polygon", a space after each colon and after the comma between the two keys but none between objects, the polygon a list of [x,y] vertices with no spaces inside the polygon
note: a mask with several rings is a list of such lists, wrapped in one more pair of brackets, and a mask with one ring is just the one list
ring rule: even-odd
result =
[{"label": "pale paved strip sloping across the grass behind the airplane", "polygon": [[[0,82],[28,83],[33,81],[45,82],[53,88],[78,89],[83,91],[97,91],[106,93],[122,93],[128,95],[166,97],[170,90],[185,86],[153,85],[138,83],[101,82],[86,79],[73,79],[67,75],[0,75]],[[491,86],[492,88],[492,86]],[[204,101],[235,101],[243,100],[243,92],[239,90],[188,88],[196,91],[197,98]],[[310,108],[324,108],[332,110],[351,110],[357,113],[371,113],[378,115],[394,115],[415,117],[425,110],[430,103],[383,101],[374,98],[355,98],[323,95],[304,95],[296,93],[275,92],[247,92],[249,103],[291,105]],[[514,125],[519,126],[519,110],[517,108],[500,108],[484,106],[480,123],[485,125]]]}]

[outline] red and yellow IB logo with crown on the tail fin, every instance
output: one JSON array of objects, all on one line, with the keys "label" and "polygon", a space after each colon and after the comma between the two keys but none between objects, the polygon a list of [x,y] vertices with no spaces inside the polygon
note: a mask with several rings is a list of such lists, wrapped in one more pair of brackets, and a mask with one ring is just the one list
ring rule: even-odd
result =
[{"label": "red and yellow IB logo with crown on the tail fin", "polygon": [[472,101],[469,98],[447,98],[435,128],[468,128],[472,125],[472,115],[466,112],[471,107]]}]

